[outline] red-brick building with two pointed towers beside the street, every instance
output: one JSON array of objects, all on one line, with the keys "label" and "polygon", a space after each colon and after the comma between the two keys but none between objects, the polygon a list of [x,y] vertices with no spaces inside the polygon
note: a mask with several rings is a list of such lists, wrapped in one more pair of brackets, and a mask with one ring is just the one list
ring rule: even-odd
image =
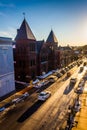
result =
[{"label": "red-brick building with two pointed towers beside the street", "polygon": [[15,38],[15,78],[29,82],[43,72],[57,69],[59,63],[58,41],[51,30],[47,41],[37,41],[26,19],[17,30]]}]

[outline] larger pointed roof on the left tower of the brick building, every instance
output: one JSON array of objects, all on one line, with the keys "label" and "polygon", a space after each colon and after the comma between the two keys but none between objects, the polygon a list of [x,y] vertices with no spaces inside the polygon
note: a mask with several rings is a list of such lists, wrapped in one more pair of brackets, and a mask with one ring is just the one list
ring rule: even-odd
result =
[{"label": "larger pointed roof on the left tower of the brick building", "polygon": [[15,40],[18,39],[30,39],[30,40],[35,40],[36,38],[34,36],[34,34],[32,33],[26,19],[23,20],[20,29],[17,30],[17,35]]}]

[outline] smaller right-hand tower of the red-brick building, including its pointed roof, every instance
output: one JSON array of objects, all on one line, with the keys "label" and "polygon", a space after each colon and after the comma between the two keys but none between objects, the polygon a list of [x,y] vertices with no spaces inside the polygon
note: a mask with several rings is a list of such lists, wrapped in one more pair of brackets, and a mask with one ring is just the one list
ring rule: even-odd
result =
[{"label": "smaller right-hand tower of the red-brick building, including its pointed roof", "polygon": [[54,70],[59,68],[59,50],[58,50],[58,40],[51,30],[47,40],[46,47],[48,48],[48,70]]}]

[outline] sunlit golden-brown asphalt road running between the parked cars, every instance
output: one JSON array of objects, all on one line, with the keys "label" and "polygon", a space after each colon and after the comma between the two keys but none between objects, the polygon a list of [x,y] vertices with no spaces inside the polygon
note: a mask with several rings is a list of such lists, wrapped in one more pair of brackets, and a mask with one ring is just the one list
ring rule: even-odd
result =
[{"label": "sunlit golden-brown asphalt road running between the parked cars", "polygon": [[75,86],[70,87],[70,78],[64,76],[43,90],[51,91],[52,96],[45,102],[38,101],[38,91],[35,91],[24,102],[4,111],[0,116],[1,130],[57,130],[67,118],[68,106],[73,104],[76,94],[74,89],[85,70],[78,73],[75,67],[72,77],[77,77]]}]

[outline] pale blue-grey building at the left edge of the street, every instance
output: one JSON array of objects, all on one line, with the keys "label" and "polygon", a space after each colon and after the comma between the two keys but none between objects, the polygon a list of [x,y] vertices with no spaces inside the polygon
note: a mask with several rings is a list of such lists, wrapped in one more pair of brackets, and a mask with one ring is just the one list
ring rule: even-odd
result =
[{"label": "pale blue-grey building at the left edge of the street", "polygon": [[0,37],[0,98],[15,91],[12,39]]}]

